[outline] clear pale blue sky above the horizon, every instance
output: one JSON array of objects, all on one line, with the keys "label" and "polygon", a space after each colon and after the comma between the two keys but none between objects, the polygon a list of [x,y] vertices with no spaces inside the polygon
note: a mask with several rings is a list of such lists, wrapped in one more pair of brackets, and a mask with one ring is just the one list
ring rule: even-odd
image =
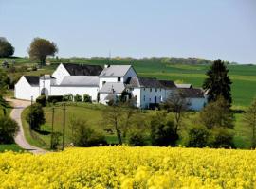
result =
[{"label": "clear pale blue sky above the horizon", "polygon": [[28,56],[197,57],[256,64],[256,0],[0,0],[0,37]]}]

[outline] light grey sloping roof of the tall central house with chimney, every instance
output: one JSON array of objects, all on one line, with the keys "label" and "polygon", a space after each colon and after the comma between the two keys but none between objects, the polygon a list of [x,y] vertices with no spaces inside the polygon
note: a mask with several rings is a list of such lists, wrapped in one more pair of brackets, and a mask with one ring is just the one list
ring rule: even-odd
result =
[{"label": "light grey sloping roof of the tall central house with chimney", "polygon": [[123,77],[131,68],[131,65],[109,65],[101,72],[100,77]]}]

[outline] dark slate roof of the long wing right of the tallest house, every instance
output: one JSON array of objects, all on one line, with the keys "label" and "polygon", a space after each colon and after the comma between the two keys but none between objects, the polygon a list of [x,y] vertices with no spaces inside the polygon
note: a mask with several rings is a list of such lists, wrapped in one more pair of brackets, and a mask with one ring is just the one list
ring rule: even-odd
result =
[{"label": "dark slate roof of the long wing right of the tallest house", "polygon": [[145,88],[163,88],[173,89],[176,88],[172,80],[157,80],[152,77],[132,77],[129,83],[130,87],[145,87]]}]

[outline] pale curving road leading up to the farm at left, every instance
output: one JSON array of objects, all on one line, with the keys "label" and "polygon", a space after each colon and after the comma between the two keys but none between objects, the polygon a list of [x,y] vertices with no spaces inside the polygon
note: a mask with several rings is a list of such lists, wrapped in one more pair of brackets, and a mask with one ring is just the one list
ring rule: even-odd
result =
[{"label": "pale curving road leading up to the farm at left", "polygon": [[46,153],[46,150],[44,150],[44,149],[29,145],[29,143],[27,143],[27,140],[24,135],[24,129],[22,127],[21,113],[27,106],[30,105],[30,102],[25,101],[25,100],[17,100],[17,99],[7,99],[7,101],[9,101],[13,107],[12,111],[10,112],[10,117],[12,119],[14,119],[19,125],[19,131],[18,131],[17,135],[15,136],[15,143],[18,146],[21,146],[22,148],[26,149],[27,151],[30,151],[33,154]]}]

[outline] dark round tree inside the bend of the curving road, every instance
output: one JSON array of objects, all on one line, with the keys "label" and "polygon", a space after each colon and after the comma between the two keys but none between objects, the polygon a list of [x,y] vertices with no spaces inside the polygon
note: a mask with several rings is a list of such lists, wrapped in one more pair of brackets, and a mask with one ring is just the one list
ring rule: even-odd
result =
[{"label": "dark round tree inside the bend of the curving road", "polygon": [[30,124],[30,129],[40,129],[40,126],[46,123],[42,105],[38,103],[33,104],[28,110],[26,120]]}]

